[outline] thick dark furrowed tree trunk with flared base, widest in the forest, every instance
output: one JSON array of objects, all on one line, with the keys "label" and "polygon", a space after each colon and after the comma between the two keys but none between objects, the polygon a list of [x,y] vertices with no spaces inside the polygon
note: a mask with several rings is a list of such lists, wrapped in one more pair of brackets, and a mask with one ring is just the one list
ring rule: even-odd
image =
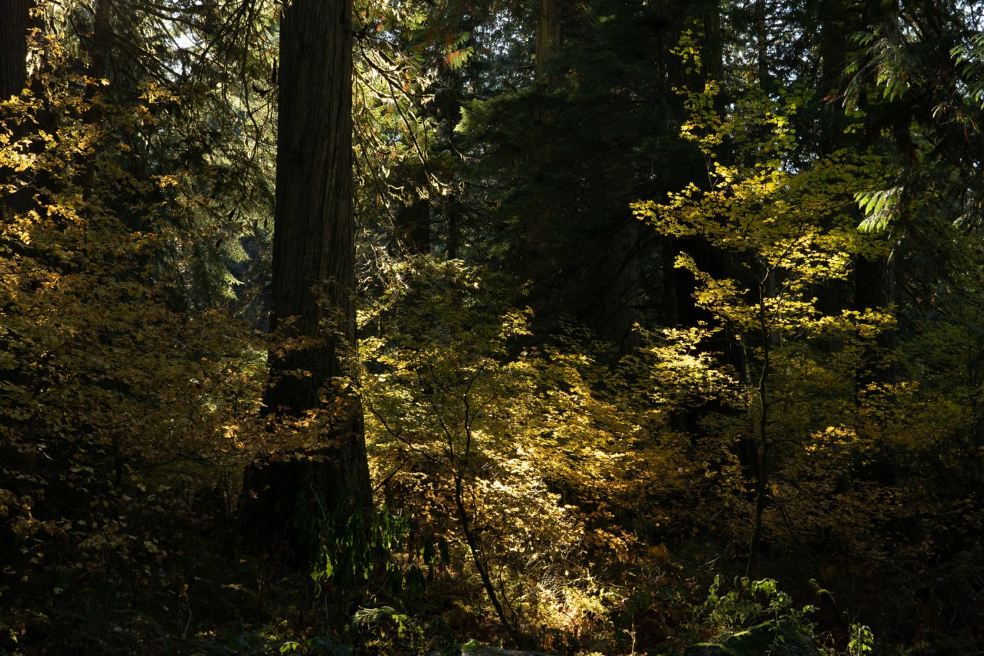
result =
[{"label": "thick dark furrowed tree trunk with flared base, widest in the forest", "polygon": [[[293,0],[280,22],[271,328],[307,343],[271,352],[274,415],[321,407],[355,345],[350,15],[350,0]],[[330,398],[340,412],[319,447],[256,463],[244,480],[247,539],[301,567],[317,555],[307,531],[323,511],[372,506],[362,408]]]}]

